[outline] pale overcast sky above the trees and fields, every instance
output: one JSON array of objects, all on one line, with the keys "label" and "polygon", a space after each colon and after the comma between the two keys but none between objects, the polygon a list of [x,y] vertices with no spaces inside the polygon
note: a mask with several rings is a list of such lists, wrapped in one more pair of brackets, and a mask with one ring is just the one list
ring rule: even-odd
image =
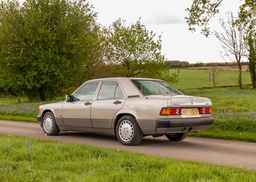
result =
[{"label": "pale overcast sky above the trees and fields", "polygon": [[[232,62],[221,57],[221,45],[212,34],[206,38],[198,31],[188,31],[184,17],[191,0],[88,0],[98,12],[97,22],[108,27],[117,19],[126,21],[131,26],[141,18],[148,31],[161,34],[162,54],[168,61],[179,60],[189,63],[223,63]],[[237,15],[241,2],[239,0],[223,0],[220,15],[225,17],[226,11]],[[220,29],[219,15],[211,20],[211,30]]]}]

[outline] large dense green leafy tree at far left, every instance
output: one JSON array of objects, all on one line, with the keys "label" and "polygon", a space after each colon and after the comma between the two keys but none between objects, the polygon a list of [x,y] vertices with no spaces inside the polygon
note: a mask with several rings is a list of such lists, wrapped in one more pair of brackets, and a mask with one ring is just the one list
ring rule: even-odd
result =
[{"label": "large dense green leafy tree at far left", "polygon": [[83,0],[1,1],[0,87],[45,100],[92,77],[100,52],[95,17]]}]

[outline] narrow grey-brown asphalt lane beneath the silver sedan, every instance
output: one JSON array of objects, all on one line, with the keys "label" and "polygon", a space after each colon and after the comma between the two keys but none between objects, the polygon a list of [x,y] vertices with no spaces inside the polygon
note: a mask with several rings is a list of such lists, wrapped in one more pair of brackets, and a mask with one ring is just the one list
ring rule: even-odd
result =
[{"label": "narrow grey-brown asphalt lane beneath the silver sedan", "polygon": [[58,136],[47,136],[38,123],[0,120],[0,133],[28,135],[60,142],[90,144],[103,148],[135,151],[154,156],[182,160],[216,163],[244,169],[256,170],[256,143],[236,142],[188,137],[180,142],[171,142],[165,137],[145,137],[138,146],[123,146],[109,135],[81,132],[61,132]]}]

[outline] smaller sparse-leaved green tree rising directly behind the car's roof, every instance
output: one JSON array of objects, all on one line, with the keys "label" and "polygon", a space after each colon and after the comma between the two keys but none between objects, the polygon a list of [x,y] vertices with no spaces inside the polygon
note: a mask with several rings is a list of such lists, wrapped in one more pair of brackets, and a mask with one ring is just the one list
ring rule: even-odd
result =
[{"label": "smaller sparse-leaved green tree rising directly behind the car's roof", "polygon": [[106,30],[108,54],[106,62],[113,76],[150,77],[171,83],[178,81],[178,73],[172,77],[161,54],[161,36],[148,31],[140,20],[126,26],[121,19]]}]

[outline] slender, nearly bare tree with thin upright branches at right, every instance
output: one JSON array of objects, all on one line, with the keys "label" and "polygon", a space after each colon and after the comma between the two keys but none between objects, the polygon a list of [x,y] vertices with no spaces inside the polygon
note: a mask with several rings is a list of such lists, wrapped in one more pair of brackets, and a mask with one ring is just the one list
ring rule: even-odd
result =
[{"label": "slender, nearly bare tree with thin upright branches at right", "polygon": [[221,31],[214,31],[214,35],[221,43],[221,47],[224,50],[223,56],[227,56],[228,59],[234,61],[238,66],[238,84],[239,87],[243,87],[242,82],[242,57],[244,56],[244,40],[241,24],[235,25],[235,19],[232,12],[226,14],[225,19],[220,19]]}]

